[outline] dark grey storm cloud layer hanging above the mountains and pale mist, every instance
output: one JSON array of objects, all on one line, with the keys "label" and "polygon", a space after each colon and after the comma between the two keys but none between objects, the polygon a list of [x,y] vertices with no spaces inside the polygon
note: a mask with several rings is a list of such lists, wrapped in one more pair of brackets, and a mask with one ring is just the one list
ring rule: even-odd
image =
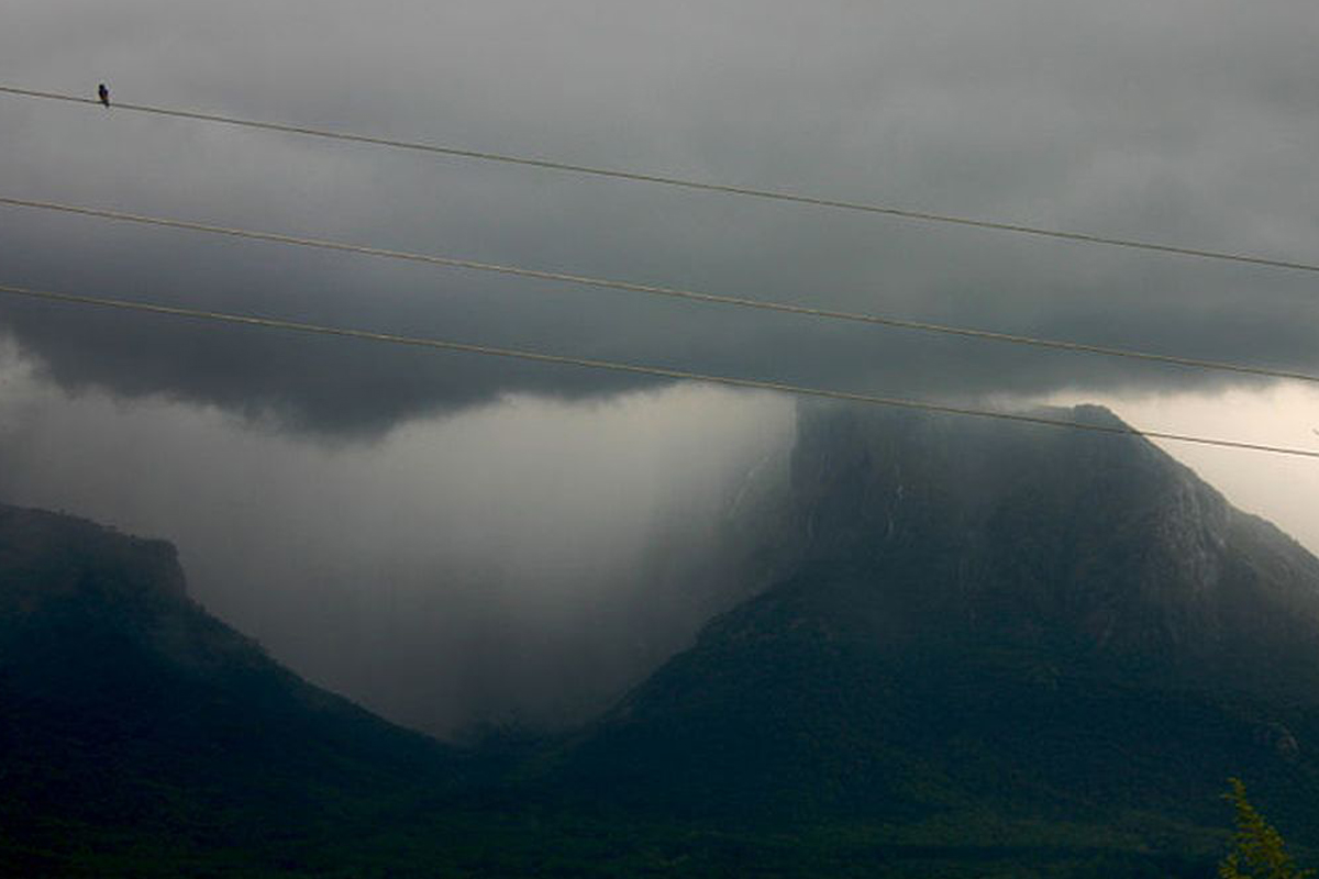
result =
[{"label": "dark grey storm cloud layer hanging above the mountains and pale mist", "polygon": [[[1304,1],[11,3],[0,80],[1307,258]],[[5,192],[1319,372],[1312,277],[0,99]],[[0,208],[4,281],[913,397],[1220,381]],[[71,387],[317,431],[634,380],[0,302]]]}]

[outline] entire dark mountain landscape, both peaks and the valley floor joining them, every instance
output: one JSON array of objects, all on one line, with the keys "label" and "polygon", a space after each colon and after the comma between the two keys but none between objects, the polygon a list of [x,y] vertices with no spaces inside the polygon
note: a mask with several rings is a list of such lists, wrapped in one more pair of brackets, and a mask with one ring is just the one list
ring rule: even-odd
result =
[{"label": "entire dark mountain landscape, both peaks and the valley floor joining them", "polygon": [[1314,556],[1140,438],[797,426],[720,531],[752,597],[594,722],[468,751],[272,663],[168,544],[0,509],[0,863],[1190,878],[1228,775],[1319,846]]}]

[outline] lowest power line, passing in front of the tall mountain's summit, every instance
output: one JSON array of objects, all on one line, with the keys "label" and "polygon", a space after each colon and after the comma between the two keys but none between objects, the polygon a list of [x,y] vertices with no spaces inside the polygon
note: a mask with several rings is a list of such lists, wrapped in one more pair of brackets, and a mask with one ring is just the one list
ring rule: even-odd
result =
[{"label": "lowest power line, passing in front of the tall mountain's summit", "polygon": [[224,311],[204,311],[199,308],[185,308],[179,306],[162,306],[149,302],[136,302],[131,299],[111,299],[106,297],[87,297],[73,293],[55,293],[50,290],[32,290],[0,285],[0,293],[28,297],[32,299],[45,299],[79,306],[96,306],[103,308],[117,308],[121,311],[145,312],[166,315],[173,318],[187,318],[247,327],[265,327],[270,329],[286,329],[291,332],[313,333],[322,336],[336,336],[340,339],[360,339],[394,345],[410,345],[414,348],[429,348],[438,351],[452,351],[471,354],[484,354],[491,357],[505,357],[513,360],[529,360],[541,364],[557,364],[562,366],[580,366],[584,369],[601,369],[609,372],[630,373],[636,376],[656,376],[660,378],[673,378],[679,381],[694,381],[712,385],[727,385],[732,387],[749,387],[757,390],[772,390],[798,397],[823,397],[827,399],[840,399],[855,403],[869,403],[876,406],[890,406],[896,409],[911,409],[926,412],[944,415],[966,415],[976,418],[993,418],[1006,422],[1020,422],[1026,424],[1041,424],[1046,427],[1059,427],[1067,430],[1089,431],[1095,434],[1108,434],[1119,436],[1140,436],[1145,439],[1162,439],[1177,443],[1194,443],[1199,445],[1219,445],[1223,448],[1248,449],[1253,452],[1269,452],[1273,455],[1289,455],[1297,457],[1319,459],[1319,451],[1291,448],[1286,445],[1269,445],[1264,443],[1248,443],[1242,440],[1215,439],[1190,434],[1170,434],[1163,431],[1141,431],[1134,427],[1113,427],[1108,424],[1084,424],[1063,419],[1043,418],[1039,415],[1024,415],[1016,412],[996,412],[984,409],[971,409],[966,406],[951,406],[946,403],[930,403],[925,401],[904,399],[898,397],[878,397],[873,394],[860,394],[843,390],[828,390],[820,387],[806,387],[777,381],[764,381],[758,378],[737,378],[733,376],[712,376],[695,373],[685,369],[669,369],[665,366],[648,366],[641,364],[619,362],[613,360],[595,360],[590,357],[571,357],[566,354],[549,354],[536,351],[522,351],[517,348],[497,348],[493,345],[476,345],[463,341],[448,341],[443,339],[426,339],[418,336],[402,336],[397,333],[376,332],[369,329],[355,329],[350,327],[328,327],[322,324],[302,323],[295,320],[282,320],[278,318],[264,318],[260,315],[241,315]]}]

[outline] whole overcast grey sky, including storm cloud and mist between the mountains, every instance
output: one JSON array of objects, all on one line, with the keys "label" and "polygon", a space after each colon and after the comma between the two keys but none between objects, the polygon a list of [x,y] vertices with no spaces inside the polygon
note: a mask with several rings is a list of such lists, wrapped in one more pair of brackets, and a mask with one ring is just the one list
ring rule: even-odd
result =
[{"label": "whole overcast grey sky, including storm cloud and mist between the mountains", "polygon": [[[1310,0],[0,0],[5,84],[1310,261],[1316,43]],[[0,96],[0,194],[1319,373],[1312,274],[113,108]],[[1312,439],[1312,397],[1261,381],[3,207],[0,283]],[[3,297],[0,336],[0,499],[177,540],[277,656],[439,730],[598,704],[679,646],[735,592],[720,503],[791,428],[756,395]],[[1312,481],[1231,460],[1206,474],[1301,521]]]}]

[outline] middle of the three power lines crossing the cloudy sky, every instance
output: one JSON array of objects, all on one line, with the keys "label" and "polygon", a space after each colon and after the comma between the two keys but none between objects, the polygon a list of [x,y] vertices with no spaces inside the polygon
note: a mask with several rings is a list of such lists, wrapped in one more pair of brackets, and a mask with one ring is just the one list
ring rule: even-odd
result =
[{"label": "middle of the three power lines crossing the cloudy sky", "polygon": [[607,290],[623,290],[628,293],[641,293],[646,295],[669,297],[674,299],[687,299],[694,302],[704,302],[711,304],[733,306],[739,308],[756,308],[761,311],[776,311],[781,314],[791,314],[807,318],[819,318],[826,320],[845,320],[852,323],[864,323],[881,327],[894,327],[900,329],[914,329],[919,332],[933,332],[943,333],[950,336],[960,336],[967,339],[981,339],[987,341],[997,341],[1017,345],[1031,345],[1037,348],[1049,348],[1054,351],[1067,351],[1072,353],[1089,353],[1101,354],[1107,357],[1124,357],[1129,360],[1142,360],[1159,364],[1170,364],[1177,366],[1187,366],[1192,369],[1210,369],[1216,372],[1229,372],[1246,376],[1265,376],[1270,378],[1290,378],[1304,382],[1319,383],[1319,376],[1310,373],[1293,372],[1285,369],[1270,369],[1266,366],[1252,366],[1248,364],[1235,364],[1219,360],[1203,360],[1198,357],[1179,357],[1177,354],[1161,354],[1146,351],[1134,351],[1129,348],[1113,348],[1108,345],[1092,345],[1079,341],[1064,341],[1058,339],[1042,339],[1037,336],[1025,336],[1018,333],[1008,332],[995,332],[991,329],[973,329],[967,327],[952,327],[947,324],[930,323],[923,320],[906,320],[902,318],[893,318],[888,315],[864,314],[855,311],[838,311],[832,308],[818,308],[814,306],[802,306],[789,302],[772,302],[765,299],[751,299],[747,297],[731,297],[715,293],[706,293],[700,290],[685,290],[679,287],[666,287],[653,283],[637,283],[632,281],[615,281],[609,278],[596,278],[591,275],[570,274],[565,271],[549,271],[542,269],[528,269],[522,266],[500,265],[493,262],[480,262],[476,260],[466,260],[458,257],[445,257],[430,253],[415,253],[410,250],[393,250],[388,248],[376,248],[364,244],[350,244],[343,241],[328,241],[324,239],[310,239],[293,235],[282,235],[278,232],[260,232],[255,229],[241,229],[226,225],[214,225],[208,223],[194,223],[190,220],[171,220],[157,216],[146,216],[141,213],[128,213],[124,211],[112,211],[107,208],[92,208],[77,204],[61,204],[57,202],[40,202],[34,199],[18,199],[0,195],[0,204],[8,204],[12,207],[25,207],[25,208],[38,208],[44,211],[58,211],[65,213],[75,213],[80,216],[91,216],[107,220],[123,220],[127,223],[137,223],[144,225],[156,225],[171,229],[186,229],[190,232],[204,232],[211,235],[224,235],[237,239],[248,239],[255,241],[268,241],[274,244],[286,244],[294,246],[315,248],[322,250],[338,250],[343,253],[355,253],[361,256],[384,257],[390,260],[406,260],[410,262],[425,262],[430,265],[458,268],[458,269],[471,269],[475,271],[492,271],[499,274],[509,274],[521,278],[536,278],[539,281],[554,281],[561,283],[576,283],[591,287],[601,287]]}]

